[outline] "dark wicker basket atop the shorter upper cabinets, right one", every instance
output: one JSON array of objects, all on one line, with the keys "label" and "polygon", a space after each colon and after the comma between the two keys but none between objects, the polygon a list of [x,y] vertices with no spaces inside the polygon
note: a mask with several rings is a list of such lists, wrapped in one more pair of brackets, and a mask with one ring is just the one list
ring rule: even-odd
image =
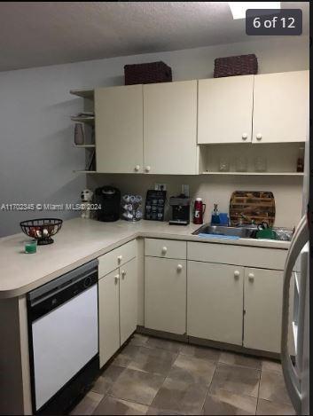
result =
[{"label": "dark wicker basket atop the shorter upper cabinets, right one", "polygon": [[257,74],[257,59],[254,53],[235,57],[216,58],[214,77]]}]

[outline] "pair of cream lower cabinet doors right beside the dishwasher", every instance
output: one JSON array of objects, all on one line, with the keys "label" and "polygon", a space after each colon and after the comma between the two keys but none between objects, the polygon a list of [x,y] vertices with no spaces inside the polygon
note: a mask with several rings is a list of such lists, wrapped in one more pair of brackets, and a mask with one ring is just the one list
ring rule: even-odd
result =
[{"label": "pair of cream lower cabinet doors right beside the dishwasher", "polygon": [[98,282],[100,367],[137,327],[137,258]]}]

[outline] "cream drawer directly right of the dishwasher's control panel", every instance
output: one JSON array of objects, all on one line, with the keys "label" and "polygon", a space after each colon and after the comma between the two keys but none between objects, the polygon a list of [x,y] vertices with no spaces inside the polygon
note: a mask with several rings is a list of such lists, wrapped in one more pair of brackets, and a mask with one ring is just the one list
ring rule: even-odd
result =
[{"label": "cream drawer directly right of the dishwasher's control panel", "polygon": [[137,241],[133,239],[129,243],[121,247],[114,248],[112,251],[98,257],[98,275],[99,279],[106,276],[107,273],[113,271],[122,264],[129,262],[137,255]]}]

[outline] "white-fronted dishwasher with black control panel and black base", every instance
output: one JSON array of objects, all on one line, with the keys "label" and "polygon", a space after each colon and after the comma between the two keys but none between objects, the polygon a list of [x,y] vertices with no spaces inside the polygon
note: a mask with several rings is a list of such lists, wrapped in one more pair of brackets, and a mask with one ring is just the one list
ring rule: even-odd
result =
[{"label": "white-fronted dishwasher with black control panel and black base", "polygon": [[33,413],[58,414],[98,373],[98,261],[27,294]]}]

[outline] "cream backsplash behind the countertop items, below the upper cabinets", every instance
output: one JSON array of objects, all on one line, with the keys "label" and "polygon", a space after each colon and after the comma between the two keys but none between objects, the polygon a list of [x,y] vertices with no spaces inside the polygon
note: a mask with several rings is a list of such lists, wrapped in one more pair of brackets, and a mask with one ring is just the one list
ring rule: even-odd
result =
[{"label": "cream backsplash behind the countertop items, below the upper cabinets", "polygon": [[[215,203],[220,212],[229,212],[233,191],[270,191],[276,204],[275,226],[293,228],[301,218],[302,178],[301,177],[221,177],[205,176],[167,176],[167,175],[89,175],[87,186],[94,189],[104,184],[116,186],[123,193],[138,193],[143,196],[154,184],[167,185],[167,199],[181,192],[181,185],[188,184],[191,198],[201,197],[207,204],[204,222],[208,222]],[[193,204],[192,204],[193,205]],[[192,210],[191,210],[192,211]],[[166,206],[165,220],[168,221],[171,210]]]}]

